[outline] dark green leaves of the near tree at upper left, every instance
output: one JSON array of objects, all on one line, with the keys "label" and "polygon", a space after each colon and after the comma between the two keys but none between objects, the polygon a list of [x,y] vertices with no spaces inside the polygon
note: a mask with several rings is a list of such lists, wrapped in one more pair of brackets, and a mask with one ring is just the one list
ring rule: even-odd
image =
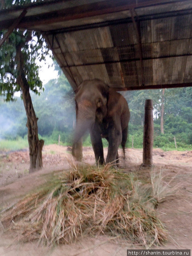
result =
[{"label": "dark green leaves of the near tree at upper left", "polygon": [[[5,31],[0,32],[0,38],[4,33]],[[40,94],[42,90],[42,82],[38,76],[39,67],[35,61],[45,60],[48,54],[44,39],[36,32],[15,30],[0,49],[0,95],[5,96],[6,101],[14,101],[14,93],[21,91],[17,80],[20,60],[16,52],[19,47],[22,47],[24,69],[30,89],[36,94]]]}]

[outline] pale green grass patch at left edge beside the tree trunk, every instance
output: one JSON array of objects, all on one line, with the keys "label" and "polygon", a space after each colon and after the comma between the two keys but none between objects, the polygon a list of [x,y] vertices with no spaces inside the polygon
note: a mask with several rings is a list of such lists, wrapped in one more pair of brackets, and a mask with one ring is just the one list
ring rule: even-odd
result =
[{"label": "pale green grass patch at left edge beside the tree trunk", "polygon": [[0,140],[0,151],[20,150],[24,148],[29,148],[27,139]]}]

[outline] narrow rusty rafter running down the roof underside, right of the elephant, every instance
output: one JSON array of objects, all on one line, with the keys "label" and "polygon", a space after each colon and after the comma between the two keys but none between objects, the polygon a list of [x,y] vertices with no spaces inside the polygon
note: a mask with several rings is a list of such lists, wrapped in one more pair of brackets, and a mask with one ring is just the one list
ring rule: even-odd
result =
[{"label": "narrow rusty rafter running down the roof underside, right of the elephant", "polygon": [[135,17],[137,16],[135,9],[129,10],[131,13],[131,19],[133,22],[133,26],[135,27],[136,37],[139,44],[139,57],[140,57],[140,68],[141,68],[141,76],[142,76],[142,83],[141,85],[144,86],[144,67],[143,67],[143,54],[142,54],[142,43],[141,43],[141,33],[140,33],[140,26],[139,22],[135,21]]}]

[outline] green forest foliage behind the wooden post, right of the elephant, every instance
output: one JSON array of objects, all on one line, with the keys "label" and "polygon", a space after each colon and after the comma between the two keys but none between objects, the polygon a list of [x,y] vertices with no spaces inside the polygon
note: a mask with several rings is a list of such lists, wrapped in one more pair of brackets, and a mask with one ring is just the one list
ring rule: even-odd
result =
[{"label": "green forest foliage behind the wooden post, right of the elephant", "polygon": [[[134,147],[142,147],[144,103],[153,99],[154,114],[154,147],[174,149],[174,136],[177,149],[192,146],[192,87],[165,89],[164,94],[164,131],[161,134],[161,90],[128,91],[124,93],[131,112],[129,122],[129,144],[132,136]],[[131,139],[130,139],[131,138]]]}]

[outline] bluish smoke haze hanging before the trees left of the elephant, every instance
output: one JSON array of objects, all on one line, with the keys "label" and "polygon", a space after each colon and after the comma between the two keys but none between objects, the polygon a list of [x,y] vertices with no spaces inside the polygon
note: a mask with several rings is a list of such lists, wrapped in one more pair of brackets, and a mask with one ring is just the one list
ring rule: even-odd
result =
[{"label": "bluish smoke haze hanging before the trees left of the elephant", "polygon": [[[63,134],[63,142],[71,136],[75,120],[74,93],[65,78],[52,79],[45,84],[40,96],[30,93],[38,117],[38,133],[43,137]],[[27,134],[27,117],[23,101],[4,102],[0,98],[0,138],[15,139]]]}]

